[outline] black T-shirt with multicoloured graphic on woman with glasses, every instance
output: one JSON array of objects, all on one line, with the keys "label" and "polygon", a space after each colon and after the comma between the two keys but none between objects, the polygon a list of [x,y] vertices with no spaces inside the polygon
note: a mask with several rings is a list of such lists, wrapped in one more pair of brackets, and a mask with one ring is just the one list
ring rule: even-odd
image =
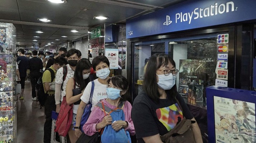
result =
[{"label": "black T-shirt with multicoloured graphic on woman with glasses", "polygon": [[[168,94],[168,93],[167,93]],[[177,123],[182,120],[192,119],[187,104],[180,95],[176,96],[179,104],[174,97],[168,95],[167,99],[159,99],[154,102],[145,93],[140,93],[134,100],[131,118],[134,123],[138,143],[144,143],[143,137],[160,136],[168,133]]]}]

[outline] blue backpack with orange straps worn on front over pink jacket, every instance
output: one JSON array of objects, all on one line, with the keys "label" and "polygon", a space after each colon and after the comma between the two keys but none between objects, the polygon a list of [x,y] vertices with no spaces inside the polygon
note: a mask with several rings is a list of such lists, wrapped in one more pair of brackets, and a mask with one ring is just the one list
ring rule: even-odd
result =
[{"label": "blue backpack with orange straps worn on front over pink jacket", "polygon": [[[119,120],[125,121],[125,114],[122,110],[124,107],[124,102],[120,102],[118,107],[115,109],[105,106],[102,101],[98,102],[96,106],[101,108],[105,116],[106,113],[111,115],[112,123]],[[125,131],[124,128],[120,129],[119,131],[115,131],[111,125],[107,125],[101,135],[101,143],[131,143],[130,133]]]}]

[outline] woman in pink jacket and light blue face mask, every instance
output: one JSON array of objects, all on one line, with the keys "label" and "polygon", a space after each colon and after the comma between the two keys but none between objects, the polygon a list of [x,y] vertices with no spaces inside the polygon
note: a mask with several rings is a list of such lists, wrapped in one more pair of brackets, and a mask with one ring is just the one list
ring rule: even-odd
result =
[{"label": "woman in pink jacket and light blue face mask", "polygon": [[125,121],[112,121],[110,115],[105,116],[100,107],[93,108],[87,122],[83,126],[83,131],[88,136],[92,136],[101,128],[111,125],[115,131],[124,128],[129,131],[130,135],[135,134],[134,125],[131,120],[131,104],[127,101],[129,95],[127,94],[128,81],[124,76],[116,75],[107,81],[107,95],[108,98],[102,100],[103,104],[111,109],[116,108],[120,102],[124,102],[122,110],[125,113]]}]

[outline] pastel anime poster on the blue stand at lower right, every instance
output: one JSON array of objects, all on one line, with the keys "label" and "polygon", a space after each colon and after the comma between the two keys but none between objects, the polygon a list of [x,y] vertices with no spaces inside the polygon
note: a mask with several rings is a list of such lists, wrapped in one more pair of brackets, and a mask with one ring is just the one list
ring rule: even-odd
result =
[{"label": "pastel anime poster on the blue stand at lower right", "polygon": [[255,143],[255,104],[214,96],[216,143]]}]

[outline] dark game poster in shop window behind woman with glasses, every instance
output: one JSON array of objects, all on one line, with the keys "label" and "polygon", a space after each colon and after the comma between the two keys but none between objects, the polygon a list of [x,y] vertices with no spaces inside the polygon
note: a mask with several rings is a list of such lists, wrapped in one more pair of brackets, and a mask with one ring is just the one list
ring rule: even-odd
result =
[{"label": "dark game poster in shop window behind woman with glasses", "polygon": [[179,65],[179,93],[188,102],[203,102],[203,88],[206,83],[204,64],[200,60],[181,59]]}]

